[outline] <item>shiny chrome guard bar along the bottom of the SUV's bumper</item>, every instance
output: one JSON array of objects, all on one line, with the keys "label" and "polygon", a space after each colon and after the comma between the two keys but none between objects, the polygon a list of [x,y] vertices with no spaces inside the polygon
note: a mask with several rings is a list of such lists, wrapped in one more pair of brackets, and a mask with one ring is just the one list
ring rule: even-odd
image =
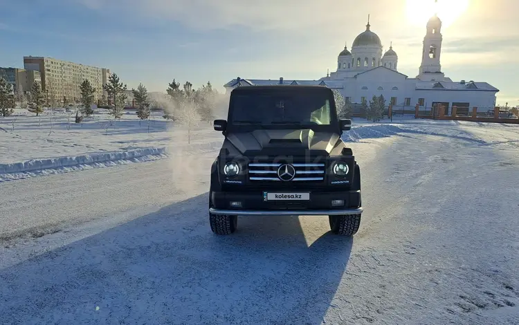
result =
[{"label": "shiny chrome guard bar along the bottom of the SUV's bumper", "polygon": [[362,214],[363,208],[358,207],[357,209],[343,209],[343,210],[219,210],[211,207],[209,209],[210,214],[219,214],[227,216],[339,216],[339,215],[352,215]]}]

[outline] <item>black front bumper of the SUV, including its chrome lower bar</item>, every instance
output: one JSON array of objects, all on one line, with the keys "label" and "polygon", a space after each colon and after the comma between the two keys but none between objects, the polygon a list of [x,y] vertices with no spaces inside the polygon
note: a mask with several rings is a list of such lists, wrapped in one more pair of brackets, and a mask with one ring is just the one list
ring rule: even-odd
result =
[{"label": "black front bumper of the SUV, including its chrome lower bar", "polygon": [[[309,192],[308,201],[265,201],[263,191],[251,192],[211,192],[212,214],[226,215],[275,215],[275,216],[304,216],[304,215],[340,215],[361,214],[361,191],[268,191],[268,192]],[[341,206],[332,205],[332,201],[342,200]],[[231,202],[241,203],[234,207]]]}]

